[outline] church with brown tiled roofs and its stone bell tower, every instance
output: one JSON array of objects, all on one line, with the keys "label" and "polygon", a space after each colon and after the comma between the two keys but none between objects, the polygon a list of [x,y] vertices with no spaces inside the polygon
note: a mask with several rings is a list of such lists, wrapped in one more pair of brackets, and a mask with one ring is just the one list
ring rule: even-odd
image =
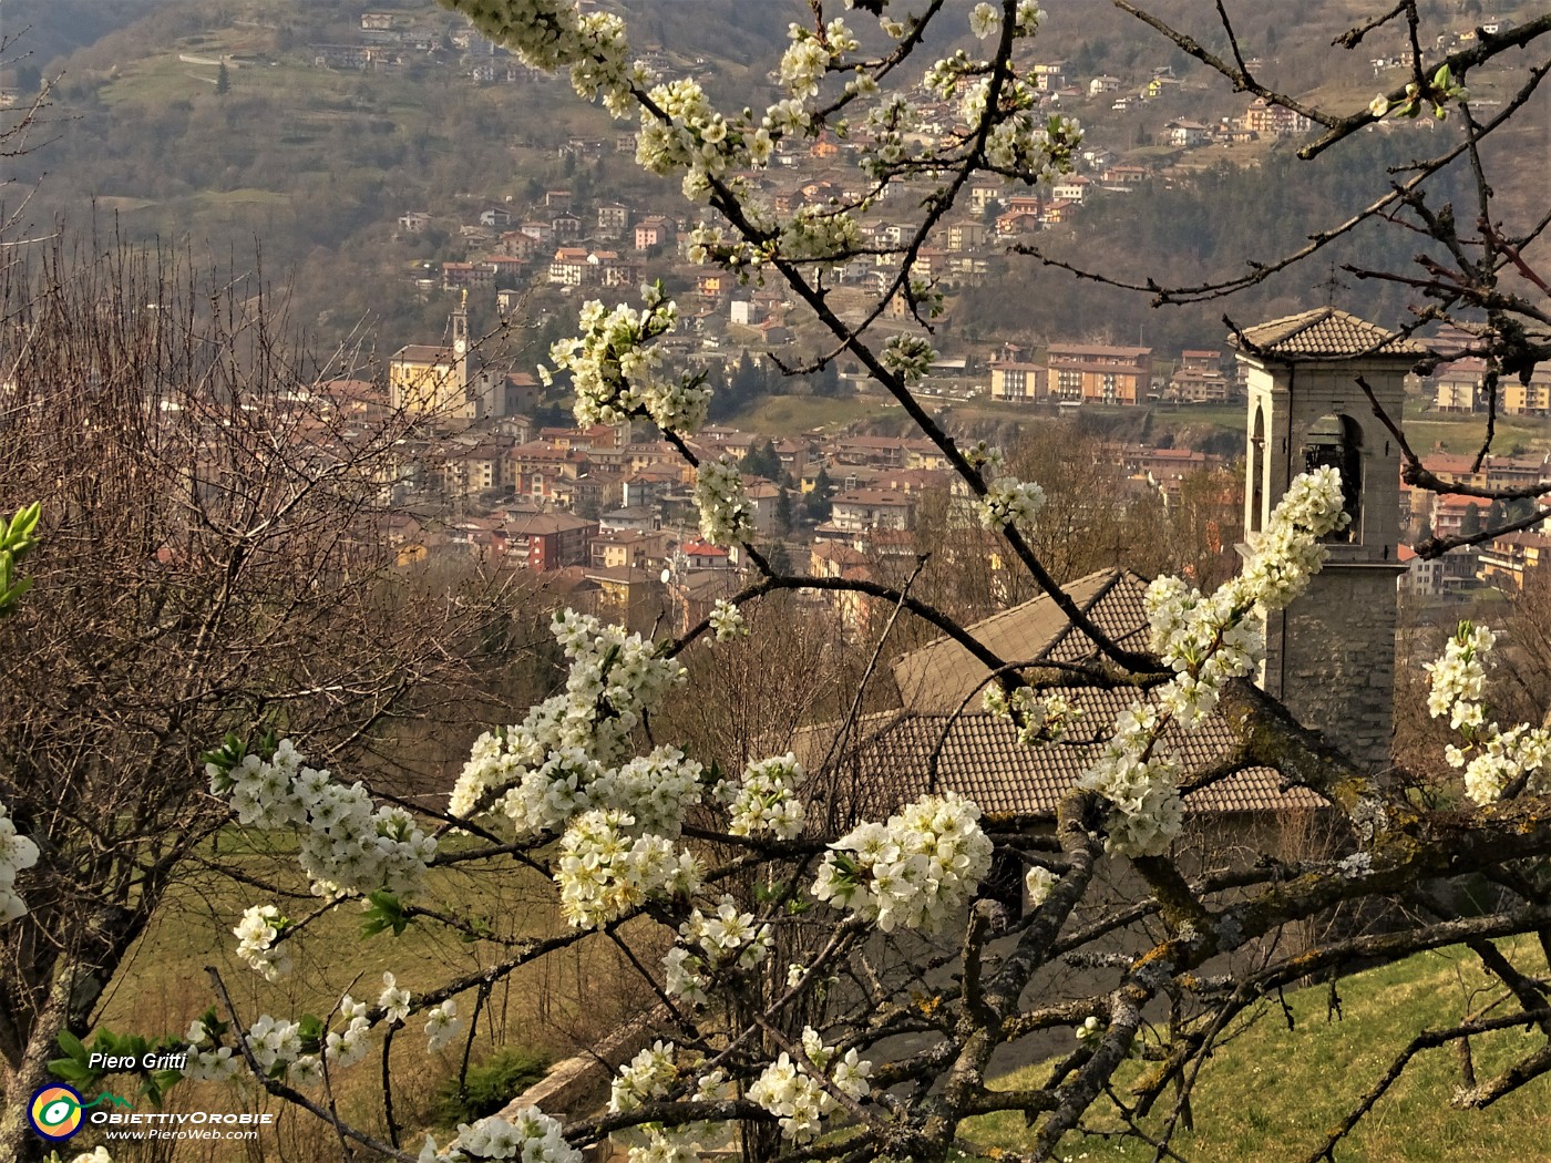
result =
[{"label": "church with brown tiled roofs and its stone bell tower", "polygon": [[[1424,349],[1332,307],[1244,329],[1235,346],[1249,381],[1245,529],[1264,529],[1292,478],[1325,465],[1342,475],[1349,516],[1329,538],[1329,558],[1309,589],[1267,619],[1259,682],[1357,764],[1383,771],[1391,766],[1396,578],[1404,569],[1401,461],[1359,380],[1399,425],[1402,381]],[[1112,640],[1145,650],[1146,585],[1131,571],[1111,569],[1066,591]],[[999,656],[1030,661],[1031,671],[1044,659],[1070,665],[1097,654],[1044,595],[968,630]],[[1008,720],[980,710],[979,692],[991,676],[959,642],[945,637],[904,654],[893,676],[903,706],[856,724],[834,764],[836,786],[851,789],[851,808],[892,811],[935,789],[968,795],[994,816],[1053,817],[1064,791],[1097,758],[1104,724],[1131,699],[1128,690],[1073,688],[1069,698],[1084,709],[1092,738],[1025,747]],[[1210,715],[1199,730],[1169,729],[1166,743],[1190,772],[1219,761],[1231,735]],[[828,752],[824,738],[814,763]],[[1264,768],[1233,772],[1185,797],[1187,819],[1230,825],[1241,836],[1269,836],[1280,820],[1326,808]]]}]

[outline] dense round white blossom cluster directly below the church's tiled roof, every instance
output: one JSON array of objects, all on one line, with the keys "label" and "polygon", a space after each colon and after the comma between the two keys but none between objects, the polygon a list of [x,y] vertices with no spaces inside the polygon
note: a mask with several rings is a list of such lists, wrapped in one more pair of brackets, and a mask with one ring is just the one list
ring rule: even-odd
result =
[{"label": "dense round white blossom cluster directly below the church's tiled roof", "polygon": [[830,845],[813,895],[884,932],[938,932],[991,870],[980,808],[954,792],[923,795],[887,823],[862,823]]}]

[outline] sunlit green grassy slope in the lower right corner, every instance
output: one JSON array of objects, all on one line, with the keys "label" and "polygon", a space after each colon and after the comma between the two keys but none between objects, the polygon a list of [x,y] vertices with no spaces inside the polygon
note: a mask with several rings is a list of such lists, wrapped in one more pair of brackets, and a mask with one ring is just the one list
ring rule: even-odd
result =
[{"label": "sunlit green grassy slope in the lower right corner", "polygon": [[[1194,1095],[1197,1129],[1176,1137],[1174,1149],[1193,1161],[1303,1160],[1416,1031],[1452,1025],[1472,1005],[1497,996],[1463,949],[1360,974],[1340,992],[1340,1020],[1326,1019],[1325,988],[1290,994],[1290,1033],[1275,1003],[1267,1003],[1259,1020],[1202,1070]],[[1478,1078],[1486,1081],[1534,1045],[1517,1030],[1475,1039]],[[1013,1087],[1019,1078],[1002,1085]],[[1546,1158],[1551,1112],[1543,1084],[1532,1082],[1487,1110],[1459,1112],[1449,1106],[1458,1081],[1459,1059],[1452,1048],[1424,1051],[1335,1157],[1366,1163]],[[1159,1115],[1166,1115],[1166,1107],[1168,1098],[1159,1103]],[[1149,1130],[1162,1126],[1159,1115],[1148,1121]],[[1093,1126],[1118,1126],[1114,1109]],[[969,1134],[986,1149],[1016,1149],[1028,1140],[1021,1115],[979,1120]],[[1059,1157],[1151,1160],[1152,1149],[1089,1137],[1062,1143]]]}]

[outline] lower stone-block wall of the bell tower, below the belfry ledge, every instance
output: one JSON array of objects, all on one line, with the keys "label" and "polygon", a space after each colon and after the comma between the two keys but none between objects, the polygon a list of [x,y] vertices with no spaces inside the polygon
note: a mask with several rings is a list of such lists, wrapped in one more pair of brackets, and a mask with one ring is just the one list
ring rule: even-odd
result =
[{"label": "lower stone-block wall of the bell tower, below the belfry ledge", "polygon": [[1328,564],[1267,619],[1264,688],[1368,771],[1391,764],[1394,569]]}]

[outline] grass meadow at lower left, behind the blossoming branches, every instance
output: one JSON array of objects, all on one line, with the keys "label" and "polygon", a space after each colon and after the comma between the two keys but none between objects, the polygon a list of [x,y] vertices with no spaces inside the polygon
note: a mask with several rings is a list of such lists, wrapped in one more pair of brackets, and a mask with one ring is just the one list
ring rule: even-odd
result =
[{"label": "grass meadow at lower left, behind the blossoming branches", "polygon": [[[448,845],[456,847],[456,840],[448,840]],[[290,837],[228,830],[217,847],[217,858],[226,867],[253,876],[279,875],[295,882],[290,859],[295,844]],[[346,992],[375,1002],[383,989],[383,972],[392,972],[402,988],[419,994],[433,985],[489,969],[512,955],[510,949],[495,943],[468,943],[425,921],[411,924],[397,938],[391,934],[363,938],[360,907],[346,906],[299,934],[293,940],[293,971],[278,982],[265,982],[236,957],[237,941],[231,929],[242,918],[242,910],[253,904],[279,904],[292,921],[299,921],[318,901],[275,896],[237,884],[202,868],[209,856],[209,851],[202,853],[202,859],[168,892],[155,921],[132,949],[104,999],[102,1028],[141,1033],[150,1039],[181,1034],[192,1019],[216,1003],[206,966],[220,972],[242,1020],[251,1023],[264,1013],[292,1019],[309,1013],[326,1017]],[[552,885],[518,865],[440,870],[434,873],[431,889],[423,901],[428,907],[465,918],[478,916],[504,938],[569,932],[555,913]],[[644,952],[647,944],[639,949]],[[475,991],[459,996],[458,1003],[467,1033]],[[620,986],[619,954],[600,938],[588,938],[538,965],[501,975],[479,1011],[473,1062],[485,1061],[499,1047],[563,1058],[575,1045],[591,1045],[647,1003]],[[396,1116],[408,1132],[406,1141],[416,1144],[422,1127],[445,1121],[436,1092],[448,1079],[456,1079],[464,1050],[461,1036],[451,1047],[428,1058],[423,1025],[423,1017],[411,1017],[392,1048]],[[378,1036],[375,1047],[380,1045]],[[374,1050],[368,1064],[341,1073],[335,1096],[341,1113],[382,1134],[378,1053]],[[132,1079],[112,1078],[126,1087],[127,1096],[138,1093]],[[278,1130],[262,1144],[265,1158],[338,1158],[338,1141],[323,1123],[287,1112],[278,1101],[251,1089],[183,1082],[171,1092],[166,1109],[279,1110]],[[447,1129],[442,1126],[439,1132],[444,1141]],[[88,1132],[82,1137],[82,1149],[95,1141]],[[220,1154],[220,1144],[194,1141],[160,1147],[109,1146],[116,1163],[228,1163],[233,1158]]]}]

